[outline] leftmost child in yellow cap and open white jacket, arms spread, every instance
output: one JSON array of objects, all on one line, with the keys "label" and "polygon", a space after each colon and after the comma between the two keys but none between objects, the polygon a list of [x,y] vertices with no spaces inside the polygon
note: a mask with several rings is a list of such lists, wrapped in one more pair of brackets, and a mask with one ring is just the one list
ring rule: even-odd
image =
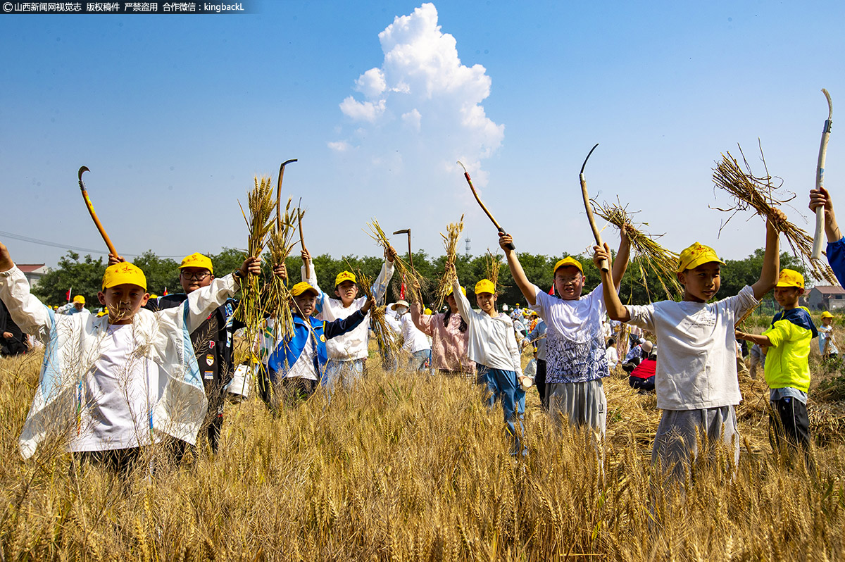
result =
[{"label": "leftmost child in yellow cap and open white jacket, arms spread", "polygon": [[189,335],[237,291],[237,279],[260,273],[248,258],[233,275],[158,313],[147,302],[144,272],[106,268],[100,303],[109,314],[57,315],[30,294],[24,274],[0,243],[0,298],[25,331],[46,343],[39,388],[20,436],[29,457],[48,437],[117,470],[163,434],[196,442],[207,401]]}]

